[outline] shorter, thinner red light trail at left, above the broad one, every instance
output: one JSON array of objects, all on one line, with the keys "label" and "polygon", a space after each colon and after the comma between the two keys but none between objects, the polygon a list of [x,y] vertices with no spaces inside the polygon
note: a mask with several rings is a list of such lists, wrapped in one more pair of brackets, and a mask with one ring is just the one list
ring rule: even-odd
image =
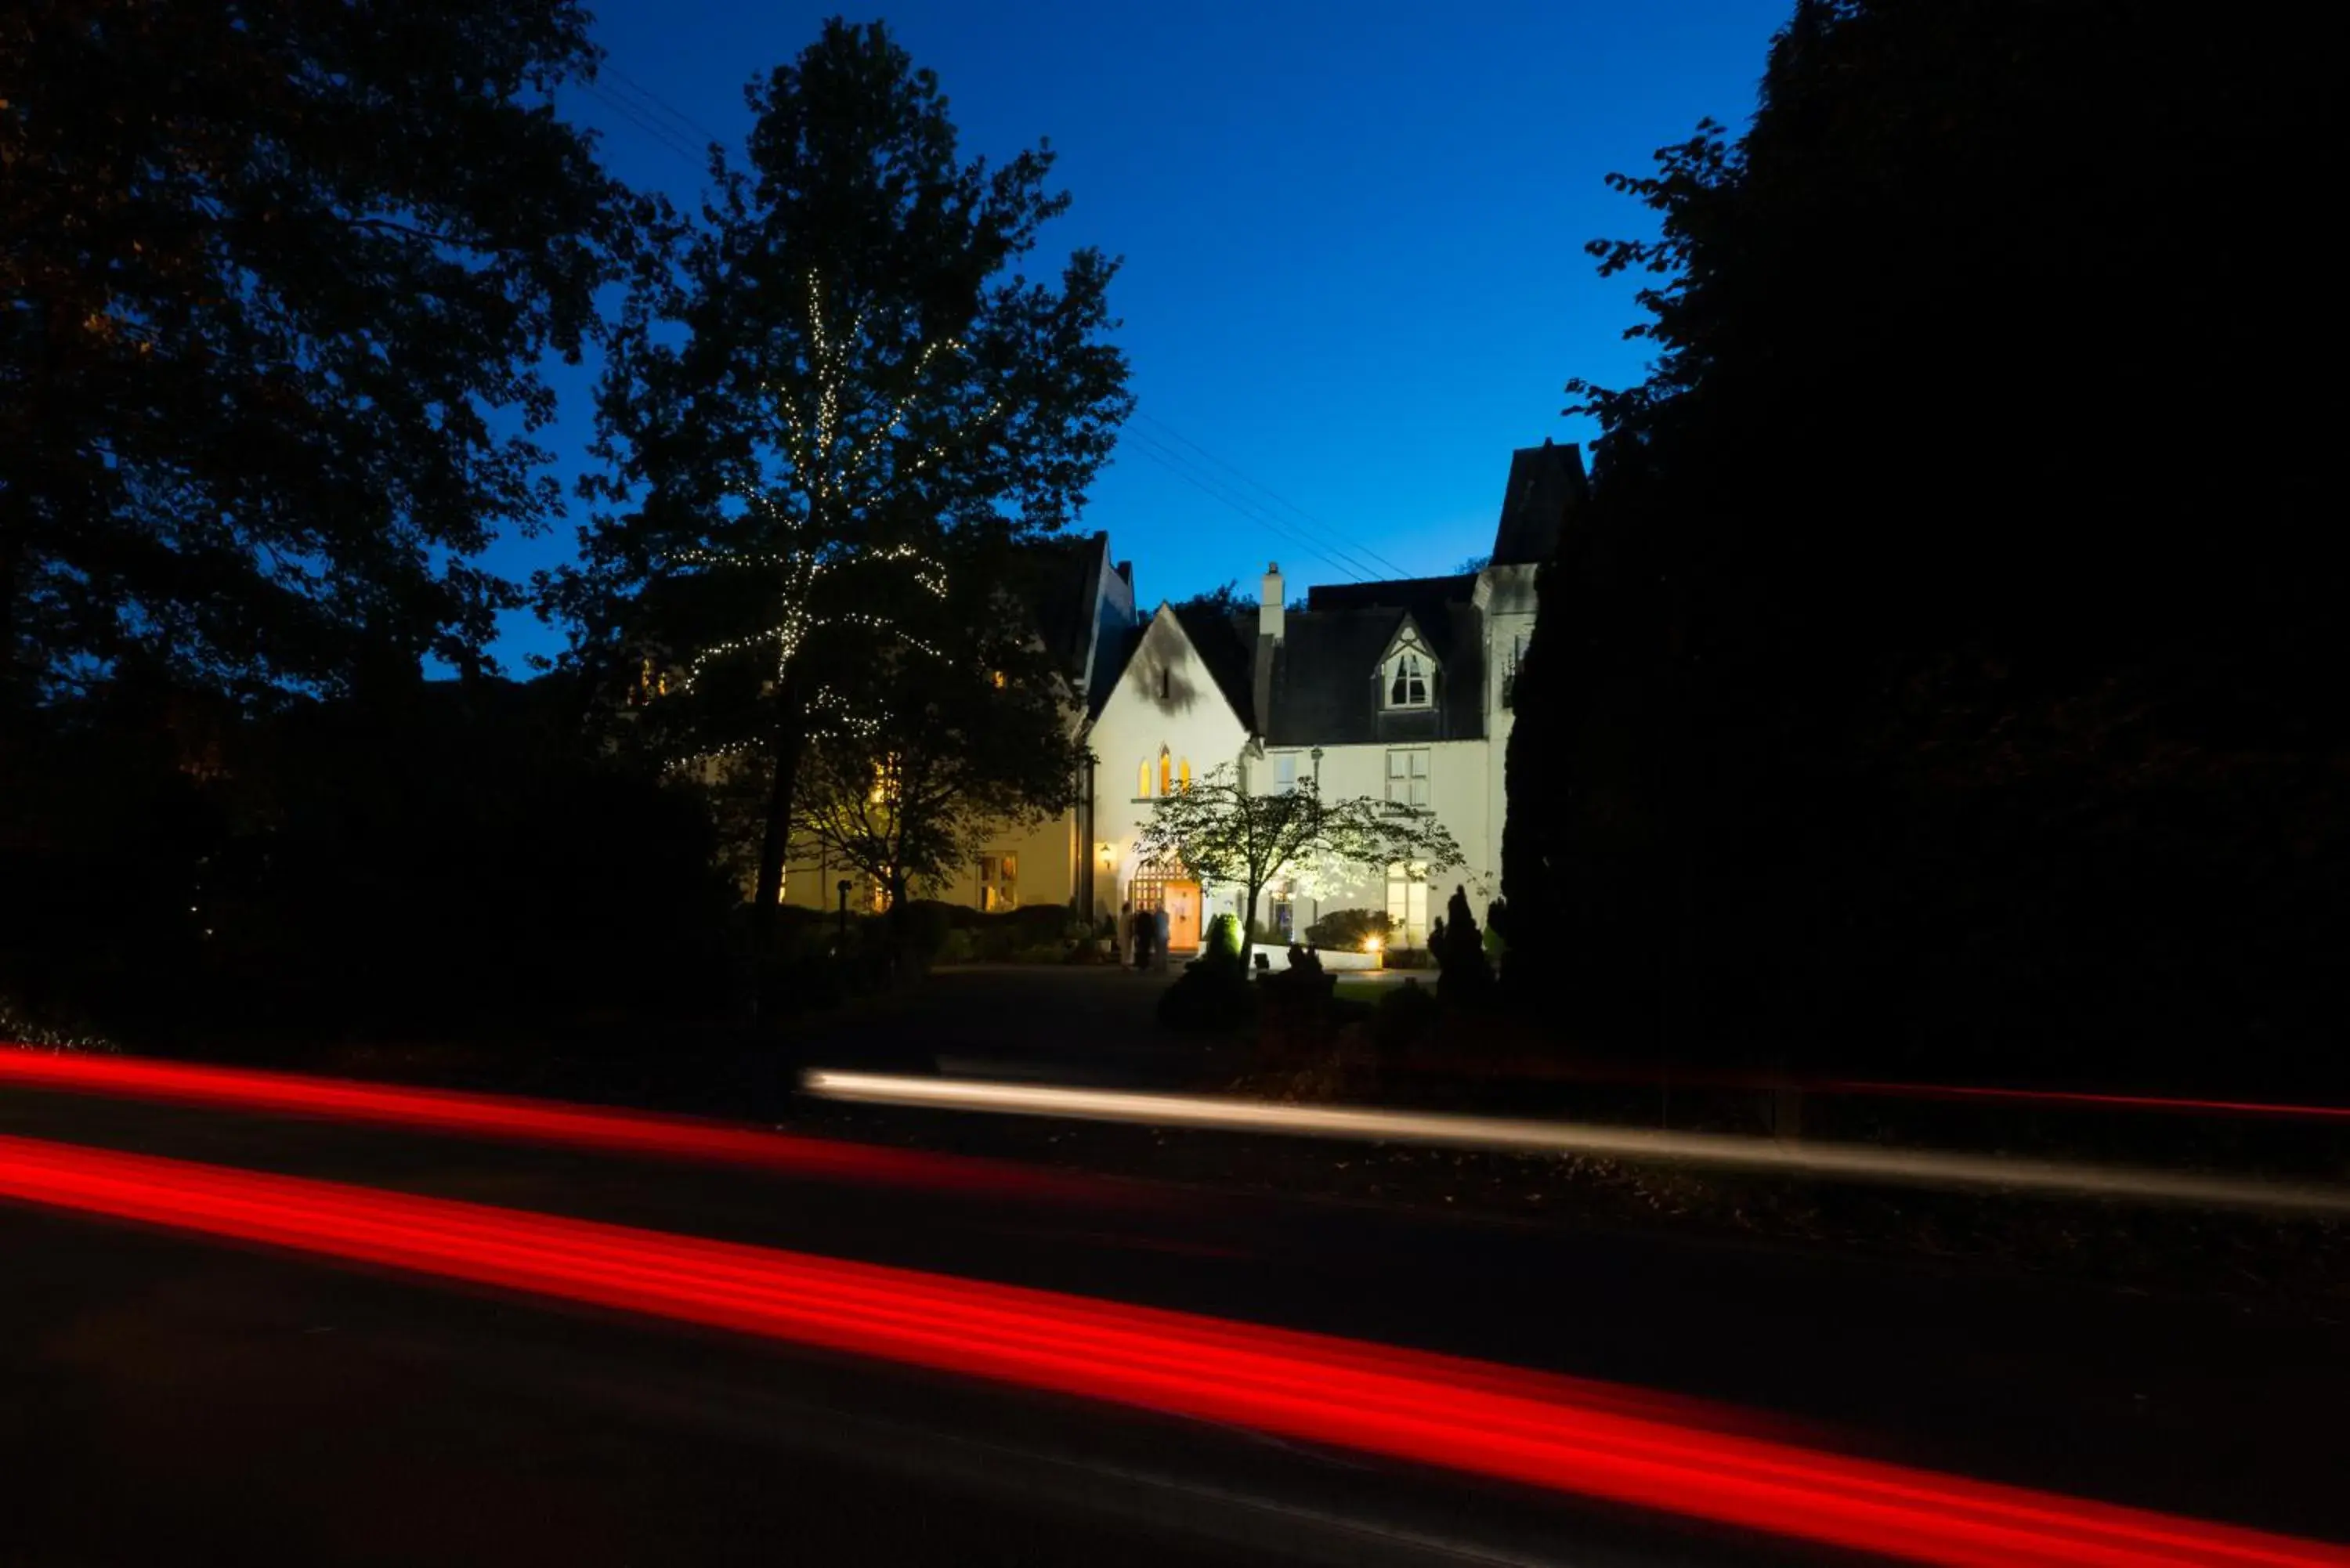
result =
[{"label": "shorter, thinner red light trail at left, above the broad one", "polygon": [[928,1192],[1090,1201],[1109,1197],[1107,1187],[961,1154],[921,1154],[834,1138],[794,1138],[757,1126],[703,1121],[698,1117],[663,1117],[653,1112],[599,1110],[444,1088],[352,1084],[291,1072],[254,1072],[247,1067],[195,1067],[136,1056],[52,1053],[0,1046],[0,1086],[214,1105],[244,1112],[334,1117],[338,1121],[369,1121],[475,1138],[519,1138],[609,1154],[750,1166],[783,1175],[881,1182]]}]

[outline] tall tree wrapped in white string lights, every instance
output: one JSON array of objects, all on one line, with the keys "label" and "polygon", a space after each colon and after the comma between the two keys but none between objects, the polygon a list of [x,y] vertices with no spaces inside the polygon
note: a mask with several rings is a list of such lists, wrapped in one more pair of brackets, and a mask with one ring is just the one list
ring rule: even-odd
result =
[{"label": "tall tree wrapped in white string lights", "polygon": [[961,536],[1069,520],[1133,400],[1116,263],[1020,270],[1069,205],[1050,150],[964,162],[938,78],[879,24],[827,21],[747,99],[745,167],[714,160],[717,197],[630,294],[588,482],[613,510],[545,588],[585,663],[682,665],[656,726],[679,755],[761,759],[766,926],[806,743],[921,651],[888,607],[945,597]]}]

